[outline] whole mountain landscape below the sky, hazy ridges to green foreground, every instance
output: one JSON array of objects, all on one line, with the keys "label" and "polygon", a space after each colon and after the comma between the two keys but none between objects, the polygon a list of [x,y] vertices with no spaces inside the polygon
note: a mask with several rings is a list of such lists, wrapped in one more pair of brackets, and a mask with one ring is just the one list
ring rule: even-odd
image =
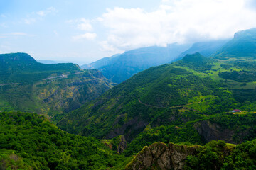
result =
[{"label": "whole mountain landscape below the sky, hazy ridges to green foreground", "polygon": [[[255,40],[146,47],[91,70],[0,55],[0,169],[255,169]],[[166,62],[139,72],[138,55]],[[95,69],[129,62],[139,73],[116,86]]]}]

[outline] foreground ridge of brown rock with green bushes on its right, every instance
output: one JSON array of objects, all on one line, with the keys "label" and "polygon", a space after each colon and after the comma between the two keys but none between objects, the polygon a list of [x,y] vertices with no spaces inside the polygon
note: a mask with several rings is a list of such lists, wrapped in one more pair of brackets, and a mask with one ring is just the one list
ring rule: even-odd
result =
[{"label": "foreground ridge of brown rock with green bushes on its right", "polygon": [[255,142],[232,145],[213,140],[204,146],[156,142],[144,147],[125,169],[255,169]]}]

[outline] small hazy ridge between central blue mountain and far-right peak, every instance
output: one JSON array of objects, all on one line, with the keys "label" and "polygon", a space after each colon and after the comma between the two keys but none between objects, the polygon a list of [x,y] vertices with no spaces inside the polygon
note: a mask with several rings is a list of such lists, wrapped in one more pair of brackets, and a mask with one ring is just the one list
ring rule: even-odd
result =
[{"label": "small hazy ridge between central blue mountain and far-right peak", "polygon": [[214,52],[219,50],[223,45],[225,45],[228,40],[213,40],[208,42],[196,42],[190,47],[188,50],[181,53],[181,55],[178,55],[174,61],[181,60],[186,55],[192,55],[196,52],[199,52],[201,55],[209,57]]}]

